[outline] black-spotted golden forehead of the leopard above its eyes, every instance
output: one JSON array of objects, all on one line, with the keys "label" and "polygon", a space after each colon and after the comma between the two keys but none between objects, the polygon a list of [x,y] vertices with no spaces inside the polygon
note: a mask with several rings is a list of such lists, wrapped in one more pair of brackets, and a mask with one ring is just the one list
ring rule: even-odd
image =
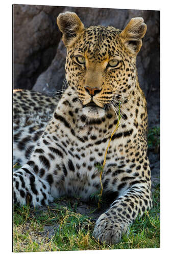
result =
[{"label": "black-spotted golden forehead of the leopard above its eyes", "polygon": [[101,62],[111,55],[122,55],[121,30],[112,26],[91,26],[86,28],[74,45],[77,54],[86,54],[91,61]]}]

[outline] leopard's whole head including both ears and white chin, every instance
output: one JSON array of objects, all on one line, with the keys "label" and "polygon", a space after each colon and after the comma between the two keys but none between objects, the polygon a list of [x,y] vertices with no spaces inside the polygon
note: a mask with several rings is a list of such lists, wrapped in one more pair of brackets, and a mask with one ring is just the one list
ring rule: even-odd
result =
[{"label": "leopard's whole head including both ears and white chin", "polygon": [[123,31],[112,26],[84,28],[73,12],[61,13],[57,24],[67,48],[68,86],[77,94],[83,114],[102,118],[116,110],[136,85],[136,55],[147,30],[143,18],[132,18]]}]

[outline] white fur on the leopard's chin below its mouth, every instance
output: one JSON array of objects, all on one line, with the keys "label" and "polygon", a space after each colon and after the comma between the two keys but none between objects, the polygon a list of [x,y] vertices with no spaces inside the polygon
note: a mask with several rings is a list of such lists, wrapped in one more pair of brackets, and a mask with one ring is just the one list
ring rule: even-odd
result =
[{"label": "white fur on the leopard's chin below its mouth", "polygon": [[88,118],[99,119],[105,116],[105,110],[101,108],[93,108],[92,106],[86,106],[82,109],[82,113]]}]

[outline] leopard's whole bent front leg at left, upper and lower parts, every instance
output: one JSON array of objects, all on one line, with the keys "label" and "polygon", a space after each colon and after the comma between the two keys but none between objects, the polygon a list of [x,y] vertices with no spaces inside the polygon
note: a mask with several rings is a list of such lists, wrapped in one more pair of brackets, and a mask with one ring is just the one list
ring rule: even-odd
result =
[{"label": "leopard's whole bent front leg at left, upper and lower parts", "polygon": [[54,134],[44,132],[30,160],[14,173],[14,202],[47,205],[53,197],[64,195],[63,159],[67,152],[57,141]]}]

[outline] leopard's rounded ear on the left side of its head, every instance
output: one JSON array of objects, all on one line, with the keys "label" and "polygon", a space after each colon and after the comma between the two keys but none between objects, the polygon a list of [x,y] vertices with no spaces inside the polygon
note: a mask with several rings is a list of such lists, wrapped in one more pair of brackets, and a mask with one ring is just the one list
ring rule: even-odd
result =
[{"label": "leopard's rounded ear on the left side of its head", "polygon": [[71,46],[84,29],[84,25],[75,12],[60,13],[57,25],[62,33],[62,40],[66,47]]}]

